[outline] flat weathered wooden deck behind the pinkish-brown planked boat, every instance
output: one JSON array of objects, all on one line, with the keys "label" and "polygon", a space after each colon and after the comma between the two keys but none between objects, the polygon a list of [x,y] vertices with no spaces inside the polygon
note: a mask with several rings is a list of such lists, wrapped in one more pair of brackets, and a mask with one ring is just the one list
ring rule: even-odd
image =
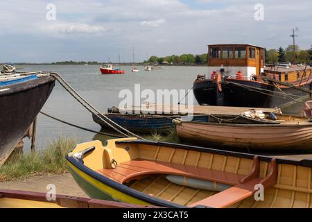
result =
[{"label": "flat weathered wooden deck behind the pinkish-brown planked boat", "polygon": [[214,105],[168,105],[157,103],[142,103],[141,106],[127,106],[119,108],[120,112],[144,114],[232,114],[237,115],[248,110],[262,110],[272,112],[272,108],[245,108]]}]

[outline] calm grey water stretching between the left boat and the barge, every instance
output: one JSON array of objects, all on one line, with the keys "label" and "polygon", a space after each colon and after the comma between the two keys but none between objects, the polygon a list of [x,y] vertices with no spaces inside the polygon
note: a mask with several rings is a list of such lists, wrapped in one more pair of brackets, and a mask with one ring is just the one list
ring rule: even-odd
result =
[{"label": "calm grey water stretching between the left boat and the barge", "polygon": [[[22,71],[55,71],[87,101],[98,110],[105,112],[113,105],[118,106],[123,99],[119,99],[121,89],[134,92],[134,85],[139,83],[143,89],[191,89],[197,74],[207,73],[207,67],[164,67],[161,70],[132,73],[132,67],[125,69],[124,75],[101,75],[97,65],[81,66],[27,66]],[[194,99],[195,103],[196,100]],[[80,103],[71,97],[58,82],[42,111],[60,119],[75,123],[85,128],[99,131],[101,127],[94,123],[90,114]],[[73,137],[78,142],[86,142],[98,138],[94,133],[64,125],[53,119],[39,114],[37,121],[36,147],[44,148],[52,139],[60,136]],[[28,139],[24,139],[25,150],[28,150]]]}]

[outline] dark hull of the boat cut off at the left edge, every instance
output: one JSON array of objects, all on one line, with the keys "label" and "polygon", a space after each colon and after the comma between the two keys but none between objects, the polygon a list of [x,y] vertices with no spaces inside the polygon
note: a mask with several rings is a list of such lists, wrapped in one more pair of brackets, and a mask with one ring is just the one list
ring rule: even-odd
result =
[{"label": "dark hull of the boat cut off at the left edge", "polygon": [[24,137],[49,98],[55,79],[44,76],[1,87],[0,91],[0,166]]}]

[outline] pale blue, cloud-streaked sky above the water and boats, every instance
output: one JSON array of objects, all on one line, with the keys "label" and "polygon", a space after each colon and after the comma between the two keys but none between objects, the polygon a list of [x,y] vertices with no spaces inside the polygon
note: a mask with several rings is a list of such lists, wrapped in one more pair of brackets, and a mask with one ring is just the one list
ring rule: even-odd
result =
[{"label": "pale blue, cloud-streaked sky above the water and boats", "polygon": [[[259,5],[261,4],[261,5]],[[207,44],[312,44],[311,0],[0,2],[0,62],[131,62],[207,53]],[[263,10],[262,10],[263,9]],[[256,17],[256,18],[255,18]]]}]

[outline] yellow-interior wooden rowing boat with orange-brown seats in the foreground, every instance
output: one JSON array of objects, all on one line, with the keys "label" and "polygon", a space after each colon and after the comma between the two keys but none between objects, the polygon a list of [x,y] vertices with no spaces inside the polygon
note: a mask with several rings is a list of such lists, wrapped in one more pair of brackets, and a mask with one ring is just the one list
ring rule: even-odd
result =
[{"label": "yellow-interior wooden rowing boat with orange-brown seats in the foreground", "polygon": [[[91,198],[161,207],[312,207],[312,160],[126,138],[78,144],[67,163]],[[261,186],[264,200],[257,201]]]}]

